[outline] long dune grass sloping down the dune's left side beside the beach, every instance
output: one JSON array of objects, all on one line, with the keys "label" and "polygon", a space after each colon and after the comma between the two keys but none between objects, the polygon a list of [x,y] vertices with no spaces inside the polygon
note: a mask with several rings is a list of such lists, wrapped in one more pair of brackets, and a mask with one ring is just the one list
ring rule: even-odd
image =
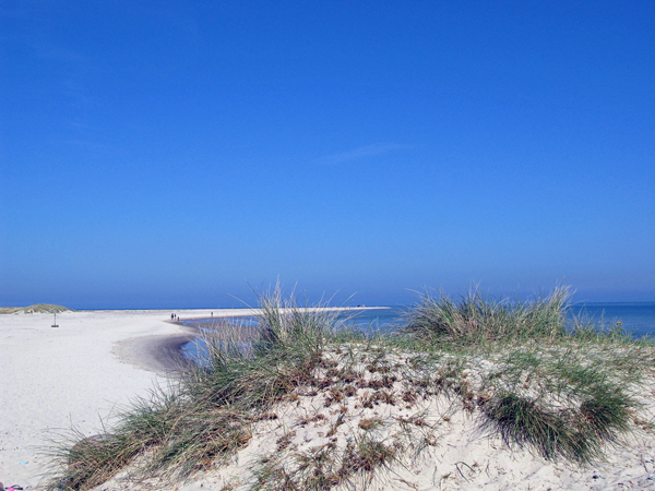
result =
[{"label": "long dune grass sloping down the dune's left side beside the beach", "polygon": [[56,447],[62,471],[50,487],[93,488],[136,457],[146,476],[189,476],[246,445],[266,410],[311,379],[336,318],[283,302],[278,289],[261,300],[260,335],[246,349],[240,339],[207,335],[205,362],[184,371],[175,386],[136,400],[93,444],[75,442],[73,432]]}]

